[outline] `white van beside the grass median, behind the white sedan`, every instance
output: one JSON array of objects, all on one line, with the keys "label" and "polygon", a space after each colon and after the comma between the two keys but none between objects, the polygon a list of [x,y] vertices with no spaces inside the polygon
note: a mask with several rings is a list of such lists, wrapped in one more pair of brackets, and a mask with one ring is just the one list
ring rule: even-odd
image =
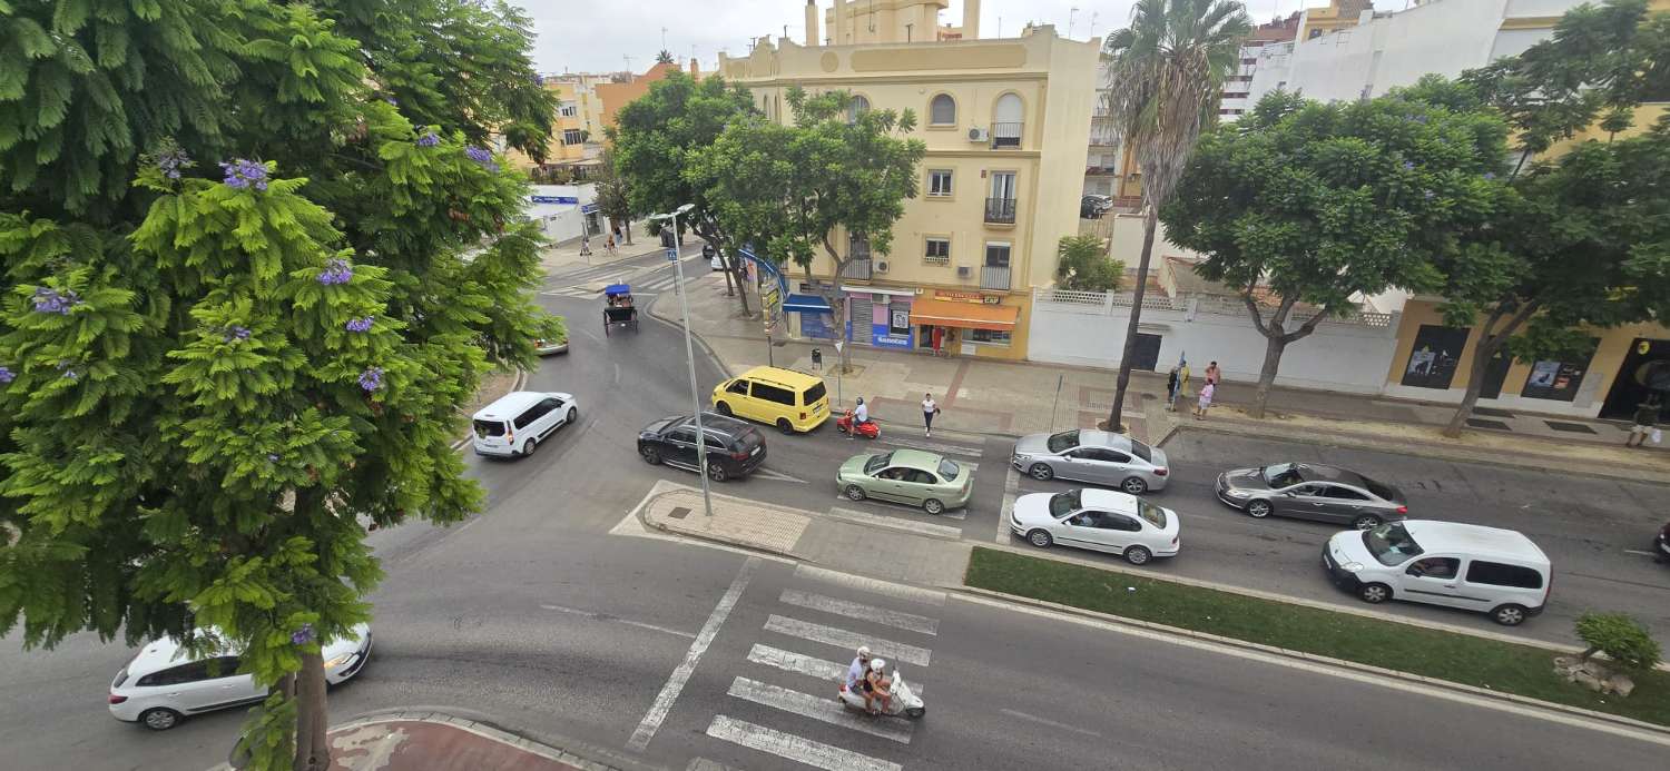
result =
[{"label": "white van beside the grass median, behind the white sedan", "polygon": [[1461,607],[1503,626],[1543,612],[1553,584],[1548,556],[1525,534],[1430,519],[1338,532],[1323,567],[1364,602]]}]

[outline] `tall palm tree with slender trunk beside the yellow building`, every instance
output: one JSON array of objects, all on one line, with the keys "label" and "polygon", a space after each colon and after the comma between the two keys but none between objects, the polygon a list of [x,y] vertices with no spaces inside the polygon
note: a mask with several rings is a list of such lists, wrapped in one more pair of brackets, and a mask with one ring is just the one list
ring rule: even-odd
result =
[{"label": "tall palm tree with slender trunk beside the yellow building", "polygon": [[1107,35],[1109,115],[1142,172],[1142,260],[1107,431],[1122,429],[1159,207],[1177,187],[1201,128],[1217,120],[1224,78],[1236,70],[1249,32],[1252,23],[1239,2],[1137,0],[1131,27]]}]

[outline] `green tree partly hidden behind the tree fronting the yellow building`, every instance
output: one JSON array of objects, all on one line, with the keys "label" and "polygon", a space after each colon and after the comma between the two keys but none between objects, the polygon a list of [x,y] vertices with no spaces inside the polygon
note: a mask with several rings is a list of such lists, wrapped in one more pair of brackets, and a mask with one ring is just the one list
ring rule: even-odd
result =
[{"label": "green tree partly hidden behind the tree fronting the yellow building", "polygon": [[[720,227],[706,187],[691,182],[686,169],[696,152],[713,145],[726,125],[746,115],[757,115],[746,88],[726,85],[718,75],[696,82],[675,70],[650,83],[648,93],[621,107],[608,128],[615,169],[630,180],[631,207],[638,212],[671,212],[693,204],[695,209],[680,222],[688,219],[691,230],[718,249],[725,260],[726,290],[731,284],[745,284],[746,270],[736,250],[746,240]],[[740,292],[738,302],[741,312],[750,314],[746,290]]]}]

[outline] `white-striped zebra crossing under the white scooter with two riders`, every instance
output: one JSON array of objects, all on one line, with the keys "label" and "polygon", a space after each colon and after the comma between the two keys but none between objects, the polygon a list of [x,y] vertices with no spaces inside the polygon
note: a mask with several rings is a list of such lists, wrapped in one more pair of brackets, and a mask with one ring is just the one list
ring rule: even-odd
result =
[{"label": "white-striped zebra crossing under the white scooter with two riders", "polygon": [[[910,744],[917,723],[847,709],[835,699],[835,689],[847,678],[853,651],[868,646],[875,656],[903,664],[907,683],[922,694],[925,686],[918,673],[932,663],[929,646],[939,636],[939,619],[929,612],[945,604],[945,592],[800,564],[795,584],[783,589],[777,602],[778,612],[770,612],[760,637],[750,641],[746,661],[758,664],[750,673],[755,678],[735,676],[725,693],[738,704],[768,708],[768,719],[752,723],[715,714],[706,734],[823,771],[902,771],[900,763],[875,754],[887,754],[878,748]],[[887,631],[860,631],[870,627]],[[800,734],[812,726],[838,726],[863,746],[855,749]]]}]

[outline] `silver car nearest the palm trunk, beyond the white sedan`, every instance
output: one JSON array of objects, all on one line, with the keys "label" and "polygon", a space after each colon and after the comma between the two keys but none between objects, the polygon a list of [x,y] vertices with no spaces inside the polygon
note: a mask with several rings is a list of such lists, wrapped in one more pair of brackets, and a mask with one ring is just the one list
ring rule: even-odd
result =
[{"label": "silver car nearest the palm trunk, beyond the white sedan", "polygon": [[1024,436],[1010,462],[1032,479],[1106,484],[1132,496],[1166,489],[1171,474],[1166,451],[1107,431]]}]

